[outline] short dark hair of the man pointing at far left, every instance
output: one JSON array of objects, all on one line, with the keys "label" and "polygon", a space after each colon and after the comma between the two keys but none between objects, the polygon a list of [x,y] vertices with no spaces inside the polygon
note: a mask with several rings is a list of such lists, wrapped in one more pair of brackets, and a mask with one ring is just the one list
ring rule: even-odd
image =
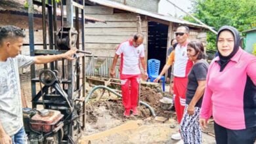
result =
[{"label": "short dark hair of the man pointing at far left", "polygon": [[3,26],[0,27],[0,45],[3,43],[3,39],[26,37],[24,31],[20,27],[16,26]]}]

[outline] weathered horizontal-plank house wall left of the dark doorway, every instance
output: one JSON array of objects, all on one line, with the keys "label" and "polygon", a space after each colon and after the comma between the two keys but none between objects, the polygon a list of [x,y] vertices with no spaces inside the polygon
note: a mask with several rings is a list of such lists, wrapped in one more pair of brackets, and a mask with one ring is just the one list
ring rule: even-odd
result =
[{"label": "weathered horizontal-plank house wall left of the dark doorway", "polygon": [[[106,21],[106,24],[85,24],[85,48],[95,56],[114,56],[117,46],[137,33],[137,14],[114,13],[114,9],[103,6],[87,6],[85,13],[87,16]],[[144,17],[141,19],[146,50],[148,22]]]}]

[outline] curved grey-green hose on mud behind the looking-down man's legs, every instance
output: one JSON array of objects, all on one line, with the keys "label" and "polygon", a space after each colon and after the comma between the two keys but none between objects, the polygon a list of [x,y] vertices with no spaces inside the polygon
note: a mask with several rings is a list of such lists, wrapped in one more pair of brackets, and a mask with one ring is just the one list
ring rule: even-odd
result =
[{"label": "curved grey-green hose on mud behind the looking-down man's legs", "polygon": [[[108,88],[107,86],[95,86],[95,88],[93,88],[93,90],[91,90],[91,92],[87,95],[87,97],[85,98],[85,103],[87,103],[89,101],[89,98],[91,97],[91,95],[93,94],[93,92],[95,92],[95,90],[97,90],[98,88],[103,88],[106,89],[110,92],[112,92],[113,94],[116,94],[116,96],[122,98],[121,94],[118,94],[117,92],[115,92],[112,88]],[[148,105],[148,103],[145,103],[143,101],[140,101],[140,104],[145,105],[146,107],[148,107],[148,109],[150,110],[150,113],[152,114],[153,117],[156,117],[156,113],[154,111],[154,109]]]}]

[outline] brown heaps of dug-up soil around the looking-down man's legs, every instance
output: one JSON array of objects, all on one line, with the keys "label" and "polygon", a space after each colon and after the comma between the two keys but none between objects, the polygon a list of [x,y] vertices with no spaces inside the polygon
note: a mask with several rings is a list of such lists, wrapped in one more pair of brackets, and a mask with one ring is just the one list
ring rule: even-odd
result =
[{"label": "brown heaps of dug-up soil around the looking-down man's legs", "polygon": [[[166,117],[169,118],[171,116],[171,111],[167,111],[164,109],[161,109],[160,107],[160,99],[163,98],[163,95],[158,92],[156,89],[150,89],[148,87],[142,86],[141,87],[141,96],[140,101],[144,101],[148,103],[151,107],[153,107],[155,113],[159,117]],[[86,105],[87,109],[87,122],[96,122],[98,116],[102,115],[102,111],[97,111],[96,109],[106,109],[106,111],[110,112],[110,115],[117,119],[127,120],[127,118],[123,117],[123,105],[121,98],[117,98],[115,95],[109,96],[108,94],[105,94],[104,97],[102,97],[99,101],[96,99],[91,99],[89,103]],[[138,117],[131,117],[128,119],[142,119],[148,118],[151,115],[149,109],[145,107],[144,105],[141,105],[138,107],[140,115]]]}]

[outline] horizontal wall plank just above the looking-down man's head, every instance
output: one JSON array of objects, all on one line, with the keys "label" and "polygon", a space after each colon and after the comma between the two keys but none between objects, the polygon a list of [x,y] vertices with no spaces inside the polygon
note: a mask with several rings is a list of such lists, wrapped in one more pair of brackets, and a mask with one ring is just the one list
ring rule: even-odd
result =
[{"label": "horizontal wall plank just above the looking-down man's head", "polygon": [[[142,29],[143,35],[146,35],[146,29]],[[136,27],[109,27],[109,28],[85,28],[85,35],[134,35],[137,33]]]}]

